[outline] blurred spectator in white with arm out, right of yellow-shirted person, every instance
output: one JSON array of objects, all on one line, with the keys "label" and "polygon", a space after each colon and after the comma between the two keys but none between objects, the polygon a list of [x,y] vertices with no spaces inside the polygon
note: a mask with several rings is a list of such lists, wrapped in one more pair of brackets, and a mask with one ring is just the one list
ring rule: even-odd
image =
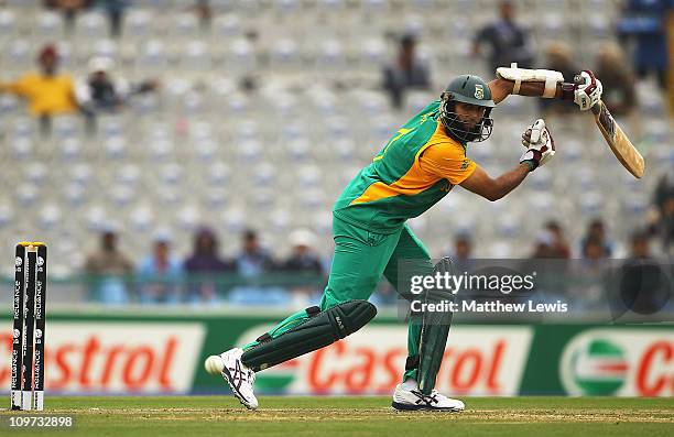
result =
[{"label": "blurred spectator in white with arm out, right of yellow-shirted person", "polygon": [[75,84],[75,96],[83,110],[91,116],[96,112],[121,109],[134,94],[156,89],[156,83],[145,80],[131,85],[115,75],[115,61],[108,57],[93,57],[88,64],[88,76]]}]

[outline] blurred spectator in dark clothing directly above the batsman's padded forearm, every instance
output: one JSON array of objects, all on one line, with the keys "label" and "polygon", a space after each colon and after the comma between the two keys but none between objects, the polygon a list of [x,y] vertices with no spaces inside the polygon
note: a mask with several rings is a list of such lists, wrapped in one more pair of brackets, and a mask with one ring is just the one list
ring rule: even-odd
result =
[{"label": "blurred spectator in dark clothing directly above the batsman's padded forearm", "polygon": [[511,1],[499,2],[499,17],[496,22],[482,28],[472,42],[472,53],[481,54],[481,45],[489,46],[487,68],[494,74],[498,67],[509,67],[518,63],[529,68],[533,64],[533,51],[529,32],[515,23],[514,6]]}]

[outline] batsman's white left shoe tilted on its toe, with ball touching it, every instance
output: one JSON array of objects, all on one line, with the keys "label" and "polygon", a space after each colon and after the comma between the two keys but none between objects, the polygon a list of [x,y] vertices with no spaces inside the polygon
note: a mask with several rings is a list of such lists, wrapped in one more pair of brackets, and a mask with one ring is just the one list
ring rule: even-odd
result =
[{"label": "batsman's white left shoe tilted on its toe, with ball touching it", "polygon": [[258,407],[258,400],[252,391],[252,384],[256,382],[256,372],[248,369],[241,362],[242,354],[243,349],[233,348],[219,356],[208,357],[204,362],[204,367],[210,374],[221,374],[239,402],[248,409],[256,409]]}]

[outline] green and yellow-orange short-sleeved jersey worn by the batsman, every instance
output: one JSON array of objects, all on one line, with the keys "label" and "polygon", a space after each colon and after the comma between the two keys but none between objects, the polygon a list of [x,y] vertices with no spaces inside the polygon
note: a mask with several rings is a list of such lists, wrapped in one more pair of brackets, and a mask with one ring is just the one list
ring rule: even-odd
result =
[{"label": "green and yellow-orange short-sleeved jersey worn by the batsman", "polygon": [[379,233],[392,233],[472,174],[466,146],[448,136],[439,121],[439,100],[398,130],[344,189],[336,217]]}]

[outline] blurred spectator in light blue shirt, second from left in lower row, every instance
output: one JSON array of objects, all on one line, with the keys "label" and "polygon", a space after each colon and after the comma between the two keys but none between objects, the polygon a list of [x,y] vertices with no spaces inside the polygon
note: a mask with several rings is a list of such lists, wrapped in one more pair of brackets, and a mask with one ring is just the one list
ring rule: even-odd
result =
[{"label": "blurred spectator in light blue shirt, second from left in lower row", "polygon": [[174,304],[180,301],[183,266],[171,255],[168,236],[155,238],[152,254],[138,265],[140,302],[143,304]]}]

